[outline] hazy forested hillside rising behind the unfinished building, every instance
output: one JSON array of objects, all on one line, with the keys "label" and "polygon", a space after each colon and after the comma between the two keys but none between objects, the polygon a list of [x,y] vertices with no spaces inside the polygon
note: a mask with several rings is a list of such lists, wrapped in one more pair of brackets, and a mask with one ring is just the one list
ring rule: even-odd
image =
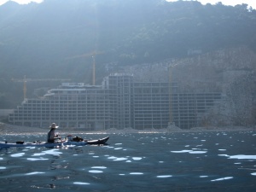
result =
[{"label": "hazy forested hillside rising behind the unfinished building", "polygon": [[[256,52],[256,11],[236,7],[163,0],[44,0],[0,6],[0,108],[22,101],[22,84],[12,79],[72,79],[96,82],[106,65],[127,67],[183,59],[246,46]],[[27,82],[34,88],[58,82]]]}]

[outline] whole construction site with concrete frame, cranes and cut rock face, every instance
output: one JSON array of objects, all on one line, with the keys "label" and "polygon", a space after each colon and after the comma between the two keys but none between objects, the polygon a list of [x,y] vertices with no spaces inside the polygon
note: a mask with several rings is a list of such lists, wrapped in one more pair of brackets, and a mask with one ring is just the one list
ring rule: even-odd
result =
[{"label": "whole construction site with concrete frame, cranes and cut rock face", "polygon": [[[242,57],[238,54],[242,51],[247,49],[229,49],[118,70],[108,65],[111,70],[106,71],[110,75],[99,85],[95,79],[94,54],[91,84],[63,83],[68,79],[58,79],[61,85],[49,89],[44,96],[28,99],[26,82],[32,79],[21,79],[24,101],[9,113],[9,123],[45,127],[55,122],[62,128],[88,131],[161,129],[168,125],[182,129],[253,125],[255,89],[250,79],[254,76],[247,70],[252,68],[253,56]],[[224,62],[237,55],[244,59],[243,65]]]}]

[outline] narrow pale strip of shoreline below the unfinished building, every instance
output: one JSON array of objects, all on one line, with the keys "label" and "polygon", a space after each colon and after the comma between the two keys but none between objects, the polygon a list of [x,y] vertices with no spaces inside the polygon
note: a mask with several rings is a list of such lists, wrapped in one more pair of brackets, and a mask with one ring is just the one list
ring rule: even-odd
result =
[{"label": "narrow pale strip of shoreline below the unfinished building", "polygon": [[[44,135],[49,131],[49,128],[38,128],[38,127],[26,127],[26,126],[17,126],[9,125],[5,123],[0,123],[0,134],[1,135],[32,135],[39,134]],[[118,129],[108,129],[103,131],[83,131],[75,129],[63,129],[59,128],[57,130],[60,134],[125,134],[125,133],[177,133],[177,132],[210,132],[210,131],[256,131],[256,125],[251,127],[244,126],[207,126],[207,127],[195,127],[189,130],[183,130],[177,126],[169,126],[166,129],[148,129],[148,130],[134,130],[132,128],[125,128],[122,130]]]}]

